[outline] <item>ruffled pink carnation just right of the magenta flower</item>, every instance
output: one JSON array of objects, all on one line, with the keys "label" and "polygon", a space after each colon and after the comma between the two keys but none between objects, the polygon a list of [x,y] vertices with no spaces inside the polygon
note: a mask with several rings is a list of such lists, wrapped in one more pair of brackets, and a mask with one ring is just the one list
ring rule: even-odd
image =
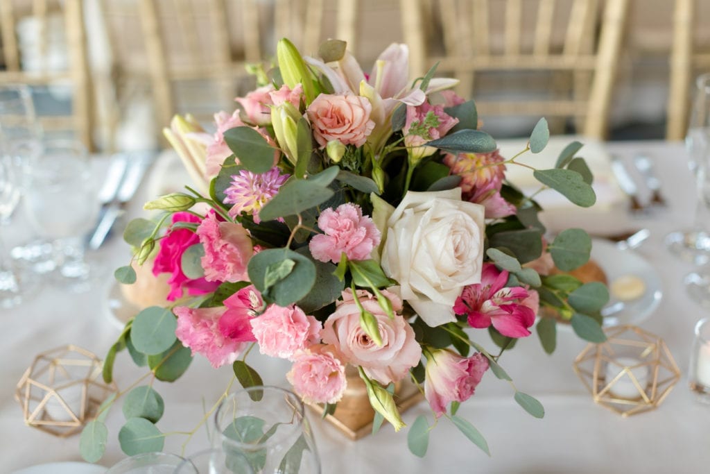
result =
[{"label": "ruffled pink carnation just right of the magenta flower", "polygon": [[253,247],[249,232],[241,224],[220,221],[212,211],[197,226],[197,237],[204,247],[201,263],[207,281],[249,280],[246,264]]}]

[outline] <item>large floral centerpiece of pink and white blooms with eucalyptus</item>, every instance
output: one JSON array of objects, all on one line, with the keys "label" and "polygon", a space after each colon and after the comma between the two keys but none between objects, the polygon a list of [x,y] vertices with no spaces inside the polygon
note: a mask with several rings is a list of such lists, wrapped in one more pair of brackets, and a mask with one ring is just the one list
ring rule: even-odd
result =
[{"label": "large floral centerpiece of pink and white blooms with eucalyptus", "polygon": [[[531,334],[540,306],[556,315],[537,319],[547,352],[557,321],[582,338],[604,338],[604,286],[549,274],[584,264],[591,240],[566,230],[547,242],[540,206],[506,181],[506,166],[527,166],[516,158],[544,148],[545,119],[525,150],[506,159],[479,129],[474,102],[452,92],[455,80],[433,77],[435,68],[410,80],[408,49],[398,44],[366,75],[345,46],[328,41],[320,57],[304,58],[284,39],[278,66],[256,69],[260,87],[236,99],[233,113],[215,116],[214,134],[191,117],[175,117],[165,130],[197,189],[147,203],[158,216],[133,220],[124,237],[138,264],[170,274],[172,303],[126,324],[104,378],[127,348],[160,380],[207,357],[214,367],[233,365],[248,387],[261,384],[246,357],[255,348],[289,360],[295,393],[330,412],[351,366],[366,384],[376,428],[383,419],[395,431],[405,426],[392,387],[410,379],[432,419],[452,420],[487,452],[457,407],[487,370],[510,379],[498,359]],[[589,206],[595,195],[589,168],[574,157],[580,146],[535,177],[542,189]],[[125,266],[116,278],[130,284],[136,274]],[[497,355],[480,341],[488,335]],[[533,416],[544,413],[528,394],[516,391],[515,400]],[[84,430],[89,459],[102,454],[111,402]],[[162,448],[162,404],[150,386],[126,395],[124,451]],[[424,416],[409,428],[418,456],[429,430]],[[131,442],[141,436],[151,446]]]}]

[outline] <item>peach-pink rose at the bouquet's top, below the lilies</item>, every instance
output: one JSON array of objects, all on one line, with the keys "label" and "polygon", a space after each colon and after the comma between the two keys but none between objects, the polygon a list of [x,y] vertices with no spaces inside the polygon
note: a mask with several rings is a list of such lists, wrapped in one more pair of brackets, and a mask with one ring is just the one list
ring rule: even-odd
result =
[{"label": "peach-pink rose at the bouquet's top, below the lilies", "polygon": [[370,119],[372,104],[366,97],[346,94],[320,94],[306,114],[320,146],[337,140],[344,145],[363,146],[375,128]]}]

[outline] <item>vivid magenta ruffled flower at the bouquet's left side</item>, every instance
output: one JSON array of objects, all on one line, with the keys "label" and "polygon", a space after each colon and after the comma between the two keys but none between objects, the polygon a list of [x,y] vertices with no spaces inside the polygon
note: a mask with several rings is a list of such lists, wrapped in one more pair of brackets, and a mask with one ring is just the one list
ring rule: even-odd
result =
[{"label": "vivid magenta ruffled flower at the bouquet's left side", "polygon": [[[200,222],[200,217],[192,215],[190,212],[175,212],[172,220],[173,224],[175,222]],[[155,255],[155,262],[153,262],[153,274],[155,276],[161,273],[172,274],[168,279],[170,285],[168,301],[181,298],[184,288],[191,295],[201,295],[210,293],[219,286],[219,283],[209,282],[204,278],[189,279],[182,273],[182,254],[187,247],[200,242],[200,238],[195,232],[190,229],[173,229],[173,226],[170,226],[165,237],[158,242],[160,248],[158,254]]]}]

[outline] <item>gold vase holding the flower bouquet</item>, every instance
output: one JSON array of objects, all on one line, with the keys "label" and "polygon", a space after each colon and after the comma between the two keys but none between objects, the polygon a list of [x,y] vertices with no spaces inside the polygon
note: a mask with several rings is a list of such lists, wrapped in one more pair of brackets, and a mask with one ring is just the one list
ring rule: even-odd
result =
[{"label": "gold vase holding the flower bouquet", "polygon": [[[338,402],[334,413],[327,415],[325,419],[334,424],[348,438],[356,440],[371,433],[375,411],[370,405],[367,387],[363,379],[360,378],[357,368],[347,365],[345,377],[348,382],[345,393]],[[402,413],[424,399],[424,396],[409,377],[405,377],[395,384],[394,399],[400,413]],[[309,404],[309,406],[318,416],[323,414],[321,404]]]}]

